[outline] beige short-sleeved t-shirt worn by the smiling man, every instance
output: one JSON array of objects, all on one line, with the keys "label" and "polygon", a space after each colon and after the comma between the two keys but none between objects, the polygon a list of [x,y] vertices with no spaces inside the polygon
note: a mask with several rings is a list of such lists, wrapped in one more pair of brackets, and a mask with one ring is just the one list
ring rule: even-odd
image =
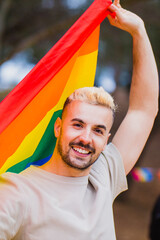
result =
[{"label": "beige short-sleeved t-shirt worn by the smiling man", "polygon": [[63,177],[31,166],[0,177],[0,240],[114,240],[112,203],[127,189],[113,144],[89,176]]}]

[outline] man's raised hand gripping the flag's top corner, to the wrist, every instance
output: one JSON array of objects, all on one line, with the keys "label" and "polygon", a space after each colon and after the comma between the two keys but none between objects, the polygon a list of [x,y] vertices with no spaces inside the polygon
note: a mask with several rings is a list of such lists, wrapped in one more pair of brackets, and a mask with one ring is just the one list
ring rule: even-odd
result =
[{"label": "man's raised hand gripping the flag's top corner, to the wrist", "polygon": [[116,13],[115,18],[108,16],[111,25],[129,32],[132,36],[141,33],[145,29],[142,19],[136,14],[123,9],[120,0],[114,0],[114,3],[108,9]]}]

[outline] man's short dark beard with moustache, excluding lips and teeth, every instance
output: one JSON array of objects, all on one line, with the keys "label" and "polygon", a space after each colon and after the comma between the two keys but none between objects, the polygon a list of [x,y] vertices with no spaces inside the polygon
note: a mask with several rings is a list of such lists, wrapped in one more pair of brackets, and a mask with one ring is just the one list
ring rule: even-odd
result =
[{"label": "man's short dark beard with moustache, excluding lips and teeth", "polygon": [[[70,150],[72,149],[72,146],[76,147],[83,147],[84,149],[90,150],[91,153],[89,153],[88,160],[85,161],[84,158],[81,157],[70,157]],[[61,141],[61,137],[58,140],[57,145],[57,151],[59,155],[61,156],[62,160],[70,167],[78,170],[85,170],[88,169],[99,157],[99,154],[96,154],[96,151],[94,148],[92,148],[89,144],[84,145],[82,142],[70,142],[68,151],[65,151],[63,149],[63,143]]]}]

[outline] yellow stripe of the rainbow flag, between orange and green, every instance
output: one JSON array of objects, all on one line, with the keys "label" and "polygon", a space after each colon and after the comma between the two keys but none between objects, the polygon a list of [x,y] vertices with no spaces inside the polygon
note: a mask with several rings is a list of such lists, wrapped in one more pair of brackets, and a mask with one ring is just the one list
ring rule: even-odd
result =
[{"label": "yellow stripe of the rainbow flag, between orange and green", "polygon": [[[35,152],[53,113],[63,108],[65,99],[77,88],[94,85],[98,51],[77,58],[72,69],[70,78],[62,93],[58,104],[52,108],[43,120],[30,132],[20,144],[16,152],[10,156],[0,169],[0,174],[7,171],[8,168],[32,156]],[[47,93],[46,93],[47,94]]]}]

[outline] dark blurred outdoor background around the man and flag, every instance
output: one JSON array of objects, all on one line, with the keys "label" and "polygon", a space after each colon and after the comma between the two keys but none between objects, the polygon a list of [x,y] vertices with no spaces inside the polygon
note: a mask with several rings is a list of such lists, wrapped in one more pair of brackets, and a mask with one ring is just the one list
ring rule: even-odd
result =
[{"label": "dark blurred outdoor background around the man and flag", "polygon": [[[0,101],[61,38],[93,0],[0,0]],[[121,0],[145,22],[160,69],[160,1]],[[95,85],[118,104],[112,136],[128,107],[132,75],[132,39],[101,25]],[[148,240],[153,205],[160,194],[160,115],[145,149],[128,176],[129,190],[114,203],[118,240]],[[138,142],[137,142],[138,144]]]}]

